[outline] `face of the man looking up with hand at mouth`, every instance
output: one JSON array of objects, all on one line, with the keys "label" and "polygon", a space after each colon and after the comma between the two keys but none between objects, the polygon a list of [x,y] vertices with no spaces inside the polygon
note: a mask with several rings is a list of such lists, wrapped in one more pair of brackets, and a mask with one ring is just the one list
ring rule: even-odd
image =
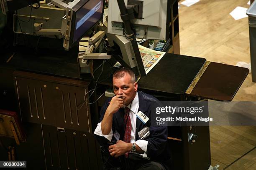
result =
[{"label": "face of the man looking up with hand at mouth", "polygon": [[127,73],[120,78],[113,77],[113,90],[115,95],[121,95],[124,99],[124,104],[129,105],[134,97],[136,96],[136,91],[138,89],[137,82],[131,81],[131,76]]}]

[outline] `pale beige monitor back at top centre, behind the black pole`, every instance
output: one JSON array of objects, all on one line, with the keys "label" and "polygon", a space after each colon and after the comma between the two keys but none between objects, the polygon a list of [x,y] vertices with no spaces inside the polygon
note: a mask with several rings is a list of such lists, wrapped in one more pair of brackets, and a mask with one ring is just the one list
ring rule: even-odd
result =
[{"label": "pale beige monitor back at top centre, behind the black pole", "polygon": [[[171,0],[124,0],[125,5],[141,1],[142,17],[131,20],[136,38],[168,40],[171,18]],[[109,0],[108,33],[123,35],[122,19],[116,0]]]}]

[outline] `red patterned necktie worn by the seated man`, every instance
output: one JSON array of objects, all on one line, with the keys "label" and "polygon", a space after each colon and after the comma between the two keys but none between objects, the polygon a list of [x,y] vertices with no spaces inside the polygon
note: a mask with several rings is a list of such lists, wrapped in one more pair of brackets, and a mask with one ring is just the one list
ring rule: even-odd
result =
[{"label": "red patterned necktie worn by the seated man", "polygon": [[[125,107],[125,115],[124,115],[124,120],[125,120],[125,134],[123,137],[123,141],[126,143],[131,142],[131,118],[129,116],[130,109],[128,107]],[[128,158],[128,153],[125,153],[125,158]]]}]

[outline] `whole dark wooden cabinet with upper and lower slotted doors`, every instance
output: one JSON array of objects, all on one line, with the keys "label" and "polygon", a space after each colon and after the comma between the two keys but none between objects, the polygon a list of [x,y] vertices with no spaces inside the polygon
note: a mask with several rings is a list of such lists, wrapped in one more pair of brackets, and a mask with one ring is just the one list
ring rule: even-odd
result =
[{"label": "whole dark wooden cabinet with upper and lower slotted doors", "polygon": [[[27,142],[15,146],[17,158],[22,159],[25,150],[32,148],[31,155],[33,150],[44,155],[39,161],[44,165],[41,169],[102,169],[89,100],[84,102],[90,82],[23,71],[14,71],[13,77],[22,122],[38,127],[30,129],[31,133],[26,128]],[[40,143],[31,144],[35,138]],[[30,168],[36,163],[31,155],[27,159]]]}]

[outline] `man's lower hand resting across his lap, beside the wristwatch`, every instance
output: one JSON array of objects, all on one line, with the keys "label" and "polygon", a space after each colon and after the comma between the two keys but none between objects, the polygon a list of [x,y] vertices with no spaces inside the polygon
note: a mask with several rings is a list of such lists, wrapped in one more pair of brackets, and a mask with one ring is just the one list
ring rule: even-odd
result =
[{"label": "man's lower hand resting across his lap, beside the wristwatch", "polygon": [[111,156],[117,158],[118,156],[124,155],[127,152],[131,151],[131,143],[126,143],[123,140],[118,140],[116,144],[110,145],[108,150]]}]

